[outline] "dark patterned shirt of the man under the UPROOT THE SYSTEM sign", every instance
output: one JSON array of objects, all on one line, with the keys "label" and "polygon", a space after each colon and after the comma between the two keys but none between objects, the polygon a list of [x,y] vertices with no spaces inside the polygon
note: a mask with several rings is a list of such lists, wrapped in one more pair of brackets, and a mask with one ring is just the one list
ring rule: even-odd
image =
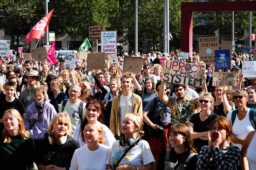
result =
[{"label": "dark patterned shirt of the man under the UPROOT THE SYSTEM sign", "polygon": [[192,115],[196,113],[199,104],[197,98],[186,98],[184,103],[180,102],[178,98],[169,97],[169,108],[171,108],[171,122],[173,124],[184,123],[189,124]]}]

